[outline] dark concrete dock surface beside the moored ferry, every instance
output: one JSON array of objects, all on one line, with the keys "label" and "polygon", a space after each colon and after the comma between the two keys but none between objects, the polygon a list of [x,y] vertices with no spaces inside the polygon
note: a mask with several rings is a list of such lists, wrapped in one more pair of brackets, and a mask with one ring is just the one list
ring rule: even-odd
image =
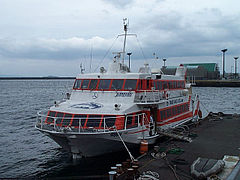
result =
[{"label": "dark concrete dock surface beside the moored ferry", "polygon": [[[160,139],[158,153],[153,157],[153,148],[139,158],[139,173],[156,172],[159,179],[187,180],[194,179],[190,166],[198,157],[223,159],[224,155],[240,155],[240,116],[221,115],[208,116],[198,125],[190,127],[192,142],[173,138]],[[164,156],[163,152],[167,152]],[[240,173],[238,177],[240,179]],[[118,179],[126,178],[126,174]]]}]

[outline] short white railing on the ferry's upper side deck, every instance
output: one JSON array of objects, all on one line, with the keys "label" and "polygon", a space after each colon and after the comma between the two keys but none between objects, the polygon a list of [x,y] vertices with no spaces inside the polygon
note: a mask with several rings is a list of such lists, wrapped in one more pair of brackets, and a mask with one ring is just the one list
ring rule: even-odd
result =
[{"label": "short white railing on the ferry's upper side deck", "polygon": [[135,103],[157,103],[166,99],[166,92],[159,90],[140,90],[135,94]]}]

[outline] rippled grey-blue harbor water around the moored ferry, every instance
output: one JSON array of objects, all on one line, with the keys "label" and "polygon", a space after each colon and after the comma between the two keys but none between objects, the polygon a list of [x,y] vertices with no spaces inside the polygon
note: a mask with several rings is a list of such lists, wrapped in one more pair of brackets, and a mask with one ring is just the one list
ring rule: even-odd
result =
[{"label": "rippled grey-blue harbor water around the moored ferry", "polygon": [[[0,81],[0,178],[100,176],[128,158],[126,152],[119,152],[73,161],[53,140],[34,128],[37,111],[63,99],[72,85],[73,80]],[[239,113],[239,91],[240,88],[193,87],[205,114]]]}]

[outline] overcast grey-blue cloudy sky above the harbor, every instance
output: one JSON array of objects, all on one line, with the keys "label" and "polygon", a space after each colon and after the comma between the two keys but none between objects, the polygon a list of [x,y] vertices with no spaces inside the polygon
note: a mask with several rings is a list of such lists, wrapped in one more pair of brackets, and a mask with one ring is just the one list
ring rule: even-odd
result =
[{"label": "overcast grey-blue cloudy sky above the harbor", "polygon": [[233,57],[240,56],[239,5],[237,0],[0,0],[0,76],[75,76],[80,63],[86,72],[107,67],[111,52],[122,48],[116,36],[123,33],[123,18],[129,19],[129,33],[137,34],[127,42],[133,71],[144,61],[162,66],[162,58],[169,66],[216,62],[221,69],[221,49],[227,48],[231,72]]}]

